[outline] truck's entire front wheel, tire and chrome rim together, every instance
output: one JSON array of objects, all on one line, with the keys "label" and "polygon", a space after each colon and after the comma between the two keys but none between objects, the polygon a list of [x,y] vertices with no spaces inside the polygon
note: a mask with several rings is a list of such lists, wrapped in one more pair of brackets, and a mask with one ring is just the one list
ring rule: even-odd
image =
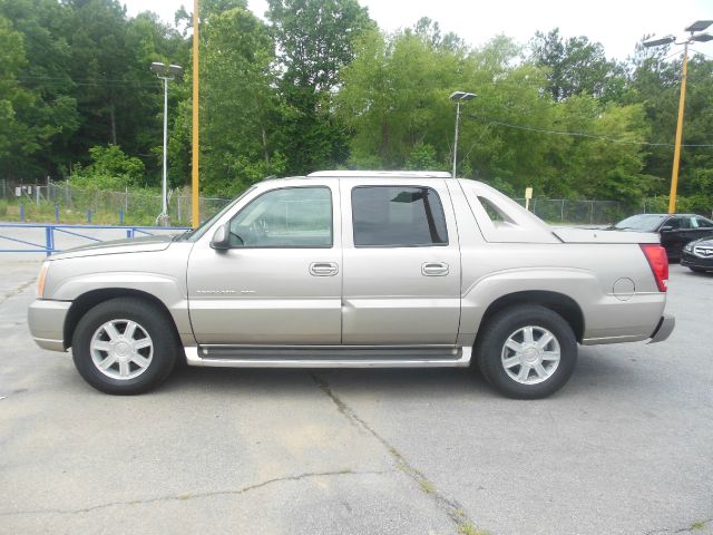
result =
[{"label": "truck's entire front wheel, tire and chrome rim together", "polygon": [[72,358],[81,377],[106,393],[141,393],[163,382],[176,363],[170,318],[135,298],[89,310],[75,330]]}]

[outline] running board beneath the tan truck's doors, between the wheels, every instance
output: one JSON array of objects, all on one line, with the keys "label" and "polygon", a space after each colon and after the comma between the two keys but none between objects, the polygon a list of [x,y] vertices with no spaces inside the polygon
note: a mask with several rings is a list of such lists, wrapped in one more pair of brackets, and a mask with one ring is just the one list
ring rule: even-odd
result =
[{"label": "running board beneath the tan truck's doors, between the wheels", "polygon": [[189,366],[214,368],[456,368],[470,364],[470,347],[201,346],[185,347]]}]

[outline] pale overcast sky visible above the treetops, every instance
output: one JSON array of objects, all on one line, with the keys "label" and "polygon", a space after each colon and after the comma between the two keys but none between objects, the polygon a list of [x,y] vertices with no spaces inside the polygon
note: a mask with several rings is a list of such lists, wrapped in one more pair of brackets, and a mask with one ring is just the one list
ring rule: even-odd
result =
[{"label": "pale overcast sky visible above the treetops", "polygon": [[[154,11],[167,22],[174,12],[192,0],[120,0],[129,16]],[[713,0],[359,0],[382,30],[408,28],[421,17],[440,25],[441,32],[452,31],[471,46],[487,42],[497,35],[526,43],[537,30],[559,28],[564,37],[587,36],[604,45],[606,56],[626,59],[634,54],[644,35],[683,37],[683,29],[696,20],[713,20]],[[250,9],[263,17],[265,0],[248,0]],[[713,26],[709,28],[713,33]],[[713,59],[713,41],[695,43],[693,49]]]}]

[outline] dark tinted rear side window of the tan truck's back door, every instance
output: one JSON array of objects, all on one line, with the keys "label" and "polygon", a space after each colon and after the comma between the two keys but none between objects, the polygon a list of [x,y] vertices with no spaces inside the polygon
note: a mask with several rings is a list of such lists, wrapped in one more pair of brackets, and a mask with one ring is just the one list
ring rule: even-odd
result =
[{"label": "dark tinted rear side window of the tan truck's back door", "polygon": [[430,187],[355,187],[352,224],[356,247],[448,245],[443,206]]}]

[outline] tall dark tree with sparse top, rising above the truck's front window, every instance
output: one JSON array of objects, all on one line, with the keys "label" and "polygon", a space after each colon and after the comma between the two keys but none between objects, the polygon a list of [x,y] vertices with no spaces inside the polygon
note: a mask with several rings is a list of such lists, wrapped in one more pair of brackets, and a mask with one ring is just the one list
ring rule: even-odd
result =
[{"label": "tall dark tree with sparse top, rising above the truck's front window", "polygon": [[330,167],[346,157],[348,135],[332,113],[340,70],[353,40],[373,27],[356,0],[268,0],[279,48],[279,88],[292,113],[282,117],[280,144],[290,173]]}]

